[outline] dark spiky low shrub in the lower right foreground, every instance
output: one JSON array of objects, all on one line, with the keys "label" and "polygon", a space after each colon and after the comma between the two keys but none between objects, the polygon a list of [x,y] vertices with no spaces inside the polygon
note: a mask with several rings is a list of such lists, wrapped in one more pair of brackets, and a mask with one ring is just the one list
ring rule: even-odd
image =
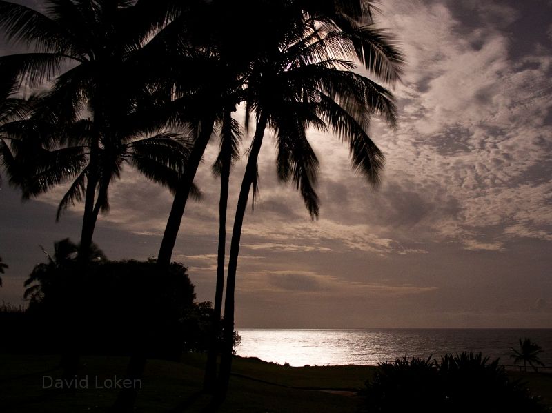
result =
[{"label": "dark spiky low shrub in the lower right foreground", "polygon": [[520,381],[481,353],[380,363],[366,382],[369,412],[546,412]]}]

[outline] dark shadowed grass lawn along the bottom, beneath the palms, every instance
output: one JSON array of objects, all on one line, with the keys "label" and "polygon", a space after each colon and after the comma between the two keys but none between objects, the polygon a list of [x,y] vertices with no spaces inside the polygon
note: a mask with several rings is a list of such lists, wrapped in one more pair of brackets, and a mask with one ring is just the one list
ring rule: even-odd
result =
[{"label": "dark shadowed grass lawn along the bottom, beneath the palms", "polygon": [[[48,377],[60,378],[59,356],[0,354],[0,412],[105,412],[118,392],[106,388],[110,382],[105,381],[123,378],[127,361],[124,357],[83,357],[80,374],[88,377],[88,388],[67,394],[43,388],[43,380],[46,385],[51,382]],[[180,362],[148,361],[136,412],[207,411],[210,399],[199,393],[203,367],[204,357],[198,354],[188,354]],[[219,412],[355,412],[362,399],[353,391],[364,387],[376,369],[290,367],[236,358],[228,399]],[[524,379],[535,394],[552,405],[551,374],[512,375]]]}]

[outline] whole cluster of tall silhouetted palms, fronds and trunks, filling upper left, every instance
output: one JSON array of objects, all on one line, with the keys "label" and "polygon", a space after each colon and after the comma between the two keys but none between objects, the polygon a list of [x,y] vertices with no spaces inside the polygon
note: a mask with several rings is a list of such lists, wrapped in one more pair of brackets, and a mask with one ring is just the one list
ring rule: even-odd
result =
[{"label": "whole cluster of tall silhouetted palms, fronds and trunks, filling upper left", "polygon": [[[26,48],[0,57],[0,156],[9,182],[23,197],[69,183],[58,218],[84,203],[79,256],[86,265],[98,214],[109,209],[109,185],[129,163],[175,194],[157,254],[157,265],[166,266],[188,197],[199,193],[197,168],[218,136],[213,334],[223,301],[230,168],[242,135],[255,126],[226,275],[221,376],[227,383],[239,241],[250,191],[255,199],[259,188],[266,130],[275,132],[279,179],[297,188],[313,218],[319,165],[309,130],[333,132],[348,145],[353,168],[377,185],[384,155],[368,127],[373,115],[395,126],[393,94],[382,83],[400,79],[402,54],[375,25],[370,0],[48,0],[44,6],[38,12],[0,1],[0,29]],[[19,99],[26,90],[35,94]],[[242,123],[233,117],[240,105]],[[213,354],[210,361],[213,370]]]}]

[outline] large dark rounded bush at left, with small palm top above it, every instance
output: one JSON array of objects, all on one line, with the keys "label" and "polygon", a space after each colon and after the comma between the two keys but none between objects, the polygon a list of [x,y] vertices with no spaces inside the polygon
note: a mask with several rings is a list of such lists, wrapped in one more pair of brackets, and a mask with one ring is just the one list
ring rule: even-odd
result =
[{"label": "large dark rounded bush at left, with small palm top above it", "polygon": [[[78,250],[69,239],[55,243],[52,255],[43,250],[47,262],[36,265],[25,282],[28,310],[0,319],[3,332],[9,322],[10,336],[20,340],[5,347],[59,352],[68,337],[64,333],[74,327],[67,323],[73,314],[83,354],[129,354],[136,345],[149,356],[168,359],[182,351],[206,351],[213,309],[194,302],[184,265],[173,262],[161,270],[155,259],[108,261],[92,244],[82,272]],[[40,347],[32,347],[32,337],[41,338]]]}]

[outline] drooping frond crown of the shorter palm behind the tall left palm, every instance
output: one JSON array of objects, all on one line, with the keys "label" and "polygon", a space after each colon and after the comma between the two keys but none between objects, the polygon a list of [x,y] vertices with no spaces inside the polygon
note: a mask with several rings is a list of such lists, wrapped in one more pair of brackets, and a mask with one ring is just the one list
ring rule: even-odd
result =
[{"label": "drooping frond crown of the shorter palm behind the tall left palm", "polygon": [[[127,115],[130,122],[134,114]],[[95,217],[100,211],[109,210],[108,187],[120,176],[124,163],[148,179],[168,186],[172,191],[184,171],[190,152],[188,137],[170,132],[137,136],[137,132],[131,128],[128,134],[126,125],[122,122],[121,125],[117,130],[117,140],[102,141],[98,150],[98,194],[93,209]],[[56,216],[56,220],[59,220],[68,205],[74,205],[84,198],[90,170],[90,135],[94,129],[92,119],[79,119],[59,127],[41,119],[39,112],[35,112],[29,119],[4,125],[4,139],[8,143],[1,141],[0,156],[10,177],[10,184],[21,188],[23,199],[29,199],[47,192],[59,183],[72,180],[59,203]],[[193,186],[192,194],[199,197],[199,189]]]}]

